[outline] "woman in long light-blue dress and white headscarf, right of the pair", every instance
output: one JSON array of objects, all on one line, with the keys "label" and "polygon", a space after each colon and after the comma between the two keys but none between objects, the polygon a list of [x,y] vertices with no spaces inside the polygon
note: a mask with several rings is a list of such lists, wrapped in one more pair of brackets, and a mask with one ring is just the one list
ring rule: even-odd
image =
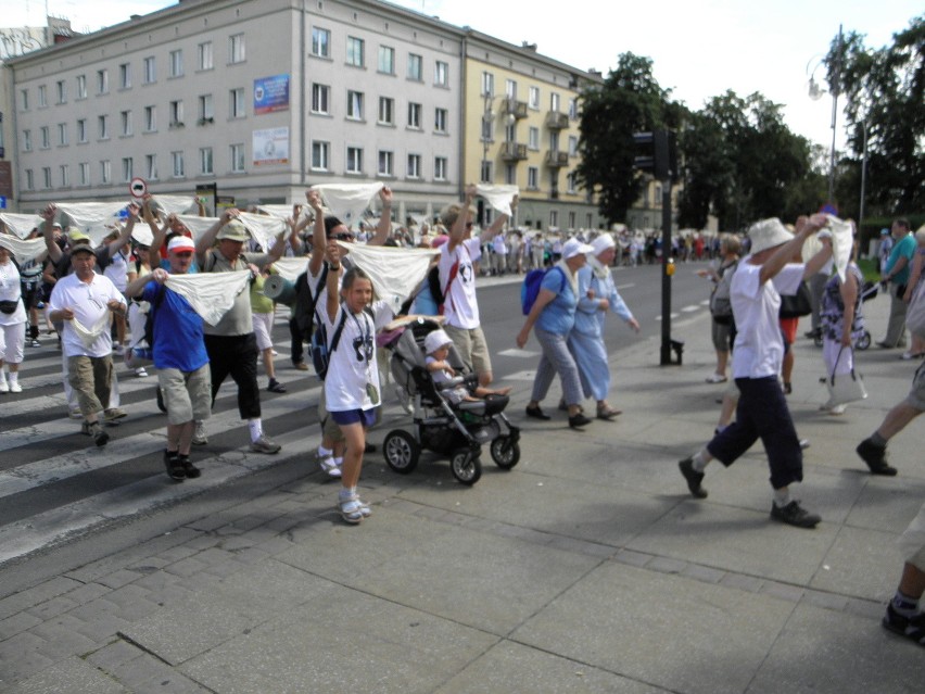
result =
[{"label": "woman in long light-blue dress and white headscarf, right of the pair", "polygon": [[587,254],[587,265],[579,269],[579,304],[575,325],[569,335],[569,351],[579,367],[579,377],[585,398],[597,402],[597,418],[611,420],[621,411],[607,403],[610,391],[610,365],[607,362],[607,345],[604,343],[604,324],[607,311],[612,311],[639,331],[639,324],[617,291],[610,264],[617,253],[613,238],[601,234],[591,243],[593,253]]}]

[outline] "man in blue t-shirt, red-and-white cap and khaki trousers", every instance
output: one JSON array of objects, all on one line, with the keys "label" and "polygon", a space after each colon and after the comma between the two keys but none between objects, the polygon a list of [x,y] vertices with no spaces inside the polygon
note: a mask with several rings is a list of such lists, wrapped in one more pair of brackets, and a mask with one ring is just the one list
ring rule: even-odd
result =
[{"label": "man in blue t-shirt, red-and-white cap and khaki trousers", "polygon": [[[177,236],[167,244],[170,275],[186,275],[192,265],[192,239]],[[208,418],[212,408],[212,377],[203,339],[202,317],[182,294],[164,282],[168,273],[157,267],[125,289],[127,296],[140,296],[151,304],[154,316],[154,366],[157,387],[167,409],[167,447],[164,465],[170,479],[181,482],[201,475],[190,462],[195,422]]]}]

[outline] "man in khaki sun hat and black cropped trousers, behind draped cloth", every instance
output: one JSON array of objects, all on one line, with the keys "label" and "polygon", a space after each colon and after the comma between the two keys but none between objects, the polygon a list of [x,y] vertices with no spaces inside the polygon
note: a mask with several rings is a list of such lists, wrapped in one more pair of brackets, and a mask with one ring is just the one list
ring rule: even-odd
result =
[{"label": "man in khaki sun hat and black cropped trousers, behind draped cloth", "polygon": [[[286,249],[282,241],[284,231],[280,232],[269,253],[242,253],[248,240],[248,229],[237,217],[237,210],[226,210],[218,222],[197,241],[197,263],[203,273],[251,273],[256,277],[261,269],[282,256]],[[238,384],[238,411],[241,418],[248,421],[251,451],[278,453],[282,446],[264,434],[261,421],[258,350],[251,317],[250,293],[239,293],[231,310],[214,326],[206,325],[204,332],[212,374],[213,402],[221,382],[230,375]],[[194,436],[199,441],[206,440],[204,431],[197,431]]]}]

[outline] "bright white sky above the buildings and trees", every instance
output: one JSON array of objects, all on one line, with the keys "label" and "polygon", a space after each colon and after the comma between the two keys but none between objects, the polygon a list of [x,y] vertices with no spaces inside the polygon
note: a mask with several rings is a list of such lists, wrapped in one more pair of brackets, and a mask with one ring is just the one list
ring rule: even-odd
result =
[{"label": "bright white sky above the buildings and trees", "polygon": [[[607,74],[621,53],[652,59],[656,79],[677,101],[697,110],[732,89],[740,97],[759,91],[783,105],[784,121],[813,142],[832,143],[832,98],[808,96],[820,60],[838,34],[865,35],[869,48],[892,42],[923,13],[922,0],[393,0],[582,70]],[[39,26],[46,8],[69,18],[77,30],[99,29],[175,4],[173,0],[4,0],[4,26]],[[15,7],[9,7],[13,4]],[[542,9],[541,9],[542,8]],[[837,144],[845,141],[836,123]]]}]

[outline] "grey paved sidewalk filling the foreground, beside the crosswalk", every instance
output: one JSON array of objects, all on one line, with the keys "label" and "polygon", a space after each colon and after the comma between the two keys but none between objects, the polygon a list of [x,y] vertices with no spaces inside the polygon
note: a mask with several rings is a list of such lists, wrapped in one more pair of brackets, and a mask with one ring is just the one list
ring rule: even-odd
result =
[{"label": "grey paved sidewalk filling the foreground, beside the crosswalk", "polygon": [[[877,339],[888,302],[865,310]],[[142,520],[163,529],[148,542],[114,531],[102,558],[78,545],[30,559],[36,576],[61,566],[37,584],[3,580],[28,564],[0,569],[0,690],[921,691],[925,651],[879,618],[894,540],[925,497],[925,419],[890,444],[899,477],[871,477],[853,453],[917,364],[860,353],[871,396],[832,417],[818,412],[821,351],[800,340],[789,401],[811,447],[797,496],[823,517],[807,531],[769,520],[760,446],[708,468],[708,500],[686,493],[676,462],[709,438],[724,386],[704,382],[706,313],[673,337],[682,367],[657,366],[657,339],[614,355],[618,421],[523,421],[521,463],[505,472],[485,451],[472,488],[429,454],[407,477],[368,456],[360,527],[292,459],[213,492],[198,517]],[[407,421],[392,407],[371,438]]]}]

